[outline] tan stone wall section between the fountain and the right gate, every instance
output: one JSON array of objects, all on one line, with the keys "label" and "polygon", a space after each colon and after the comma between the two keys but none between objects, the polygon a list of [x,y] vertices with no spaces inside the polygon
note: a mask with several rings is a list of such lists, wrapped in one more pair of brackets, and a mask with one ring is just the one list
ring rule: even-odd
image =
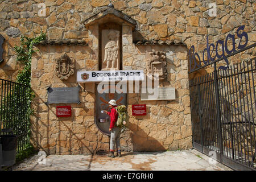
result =
[{"label": "tan stone wall section between the fountain and the right gate", "polygon": [[[145,69],[146,55],[152,49],[166,51],[167,80],[160,87],[175,88],[176,99],[141,101],[141,94],[129,94],[128,107],[146,104],[147,115],[131,116],[131,143],[134,151],[186,150],[192,147],[191,110],[188,87],[187,50],[184,46],[138,46],[133,69]],[[129,67],[129,66],[128,66]],[[141,92],[140,92],[141,93]]]}]

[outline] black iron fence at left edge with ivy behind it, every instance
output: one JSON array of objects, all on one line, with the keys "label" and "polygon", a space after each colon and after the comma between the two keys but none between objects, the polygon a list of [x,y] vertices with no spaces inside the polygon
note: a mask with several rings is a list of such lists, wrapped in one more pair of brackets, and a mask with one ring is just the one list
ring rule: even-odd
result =
[{"label": "black iron fence at left edge with ivy behind it", "polygon": [[30,86],[0,78],[0,134],[12,129],[18,136],[17,153],[30,144]]}]

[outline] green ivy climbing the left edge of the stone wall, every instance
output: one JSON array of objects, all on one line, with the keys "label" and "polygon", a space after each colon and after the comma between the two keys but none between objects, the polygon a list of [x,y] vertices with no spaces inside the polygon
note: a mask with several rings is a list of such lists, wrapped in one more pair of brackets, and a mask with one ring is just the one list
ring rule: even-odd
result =
[{"label": "green ivy climbing the left edge of the stone wall", "polygon": [[[39,44],[42,40],[46,39],[46,34],[42,33],[35,38],[27,38],[26,36],[21,36],[20,38],[20,46],[15,46],[14,49],[17,53],[16,60],[24,65],[23,69],[19,71],[16,82],[23,84],[17,85],[14,87],[13,94],[9,97],[11,103],[11,110],[8,110],[10,113],[6,113],[6,117],[10,114],[15,114],[16,119],[14,119],[11,124],[14,126],[14,134],[21,134],[26,132],[27,135],[23,135],[24,137],[19,138],[21,144],[23,144],[23,150],[17,154],[16,159],[26,158],[34,148],[31,146],[30,140],[30,115],[33,114],[33,110],[31,109],[32,99],[35,97],[34,92],[31,89],[31,60],[32,54],[36,51],[34,50],[34,45]],[[26,85],[26,86],[24,86]],[[26,91],[24,91],[24,89]],[[18,99],[17,99],[18,98]],[[14,124],[14,125],[13,125]],[[19,147],[19,146],[18,146]]]}]

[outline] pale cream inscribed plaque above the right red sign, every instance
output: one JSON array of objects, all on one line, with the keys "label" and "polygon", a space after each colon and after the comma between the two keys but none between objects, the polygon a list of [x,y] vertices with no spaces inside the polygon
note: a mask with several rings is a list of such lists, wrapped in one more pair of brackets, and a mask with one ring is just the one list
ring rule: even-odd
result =
[{"label": "pale cream inscribed plaque above the right red sign", "polygon": [[158,94],[154,93],[141,93],[142,101],[154,101],[154,100],[175,100],[175,88],[160,87],[158,88]]}]

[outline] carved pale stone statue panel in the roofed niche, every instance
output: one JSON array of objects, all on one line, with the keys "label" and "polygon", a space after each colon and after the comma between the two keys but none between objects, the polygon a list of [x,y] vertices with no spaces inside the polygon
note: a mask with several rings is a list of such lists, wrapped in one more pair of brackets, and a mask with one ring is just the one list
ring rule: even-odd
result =
[{"label": "carved pale stone statue panel in the roofed niche", "polygon": [[102,70],[119,69],[119,31],[102,30]]}]

